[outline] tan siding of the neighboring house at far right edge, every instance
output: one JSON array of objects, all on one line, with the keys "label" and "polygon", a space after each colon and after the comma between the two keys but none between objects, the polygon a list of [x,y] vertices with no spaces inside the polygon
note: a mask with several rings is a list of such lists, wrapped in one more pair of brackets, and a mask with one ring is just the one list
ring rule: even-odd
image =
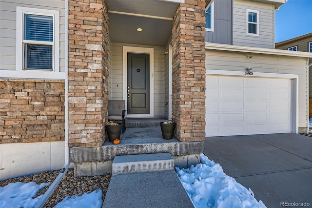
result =
[{"label": "tan siding of the neighboring house at far right edge", "polygon": [[[309,52],[309,42],[312,42],[312,35],[298,41],[276,46],[276,49],[288,50],[292,46],[297,46],[298,51]],[[309,59],[309,65],[312,63],[312,58]],[[312,66],[309,68],[309,98],[312,98]]]}]

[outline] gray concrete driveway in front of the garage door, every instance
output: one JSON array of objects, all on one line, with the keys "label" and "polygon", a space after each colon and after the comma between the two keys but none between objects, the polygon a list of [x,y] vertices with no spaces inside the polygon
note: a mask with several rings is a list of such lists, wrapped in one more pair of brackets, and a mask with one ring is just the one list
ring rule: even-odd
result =
[{"label": "gray concrete driveway in front of the garage door", "polygon": [[307,202],[312,207],[311,137],[293,133],[206,137],[204,154],[251,188],[268,208],[283,207],[283,202]]}]

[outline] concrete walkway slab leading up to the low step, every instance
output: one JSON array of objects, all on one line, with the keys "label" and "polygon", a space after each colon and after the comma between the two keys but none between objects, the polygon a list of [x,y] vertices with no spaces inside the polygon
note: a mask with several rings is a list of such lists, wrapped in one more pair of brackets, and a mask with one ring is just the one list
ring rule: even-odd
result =
[{"label": "concrete walkway slab leading up to the low step", "polygon": [[176,171],[113,175],[102,208],[194,208]]}]

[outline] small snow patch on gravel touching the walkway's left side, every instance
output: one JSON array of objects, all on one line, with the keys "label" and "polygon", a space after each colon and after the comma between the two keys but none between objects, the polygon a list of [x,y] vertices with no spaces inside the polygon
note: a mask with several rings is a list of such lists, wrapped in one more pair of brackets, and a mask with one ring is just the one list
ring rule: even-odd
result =
[{"label": "small snow patch on gravel touching the walkway's left side", "polygon": [[81,196],[67,196],[54,208],[101,208],[103,204],[102,190],[98,189]]}]

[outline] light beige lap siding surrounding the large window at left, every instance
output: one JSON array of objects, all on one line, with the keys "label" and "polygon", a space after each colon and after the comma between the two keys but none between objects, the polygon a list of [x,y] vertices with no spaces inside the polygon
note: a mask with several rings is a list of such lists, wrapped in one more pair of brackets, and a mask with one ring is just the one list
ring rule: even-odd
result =
[{"label": "light beige lap siding surrounding the large window at left", "polygon": [[0,1],[0,69],[16,70],[16,7],[59,11],[59,67],[65,71],[65,0]]}]

